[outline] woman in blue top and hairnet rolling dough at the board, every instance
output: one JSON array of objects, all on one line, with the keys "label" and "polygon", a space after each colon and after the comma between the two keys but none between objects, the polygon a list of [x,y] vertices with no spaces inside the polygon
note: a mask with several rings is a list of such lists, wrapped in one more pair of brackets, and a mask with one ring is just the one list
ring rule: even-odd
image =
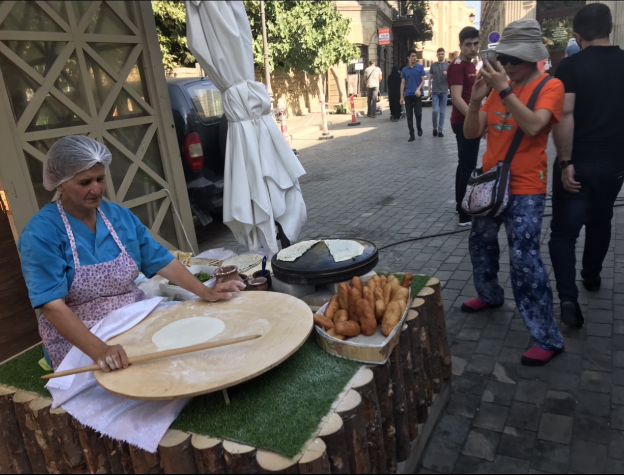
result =
[{"label": "woman in blue top and hairnet rolling dough at the board", "polygon": [[34,215],[19,239],[22,273],[33,308],[41,309],[39,333],[55,369],[72,345],[104,371],[127,368],[124,348],[107,345],[89,329],[146,298],[134,283],[139,271],[161,275],[207,301],[231,298],[243,288],[240,282],[203,285],[130,210],[102,200],[111,159],[107,147],[82,135],[52,145],[43,184],[60,198]]}]

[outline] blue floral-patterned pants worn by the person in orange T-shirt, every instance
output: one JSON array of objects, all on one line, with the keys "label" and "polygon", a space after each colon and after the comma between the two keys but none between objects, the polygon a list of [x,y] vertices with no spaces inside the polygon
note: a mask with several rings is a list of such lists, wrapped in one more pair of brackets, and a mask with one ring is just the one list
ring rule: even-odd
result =
[{"label": "blue floral-patterned pants worn by the person in orange T-shirt", "polygon": [[544,350],[563,348],[563,335],[553,313],[552,288],[540,255],[545,195],[510,195],[504,212],[495,218],[474,217],[470,259],[479,298],[491,305],[505,300],[499,284],[499,229],[504,224],[515,304],[524,324]]}]

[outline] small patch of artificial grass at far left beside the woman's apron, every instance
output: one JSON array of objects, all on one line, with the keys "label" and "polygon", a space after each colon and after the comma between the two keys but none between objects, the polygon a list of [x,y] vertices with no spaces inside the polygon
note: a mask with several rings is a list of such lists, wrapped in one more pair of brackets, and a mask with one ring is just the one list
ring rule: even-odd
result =
[{"label": "small patch of artificial grass at far left beside the woman's apron", "polygon": [[44,386],[47,380],[42,380],[41,376],[47,375],[49,371],[39,366],[38,361],[43,358],[43,347],[41,343],[30,350],[0,365],[0,384],[13,386],[24,391],[32,391],[41,394],[46,398],[51,397]]}]

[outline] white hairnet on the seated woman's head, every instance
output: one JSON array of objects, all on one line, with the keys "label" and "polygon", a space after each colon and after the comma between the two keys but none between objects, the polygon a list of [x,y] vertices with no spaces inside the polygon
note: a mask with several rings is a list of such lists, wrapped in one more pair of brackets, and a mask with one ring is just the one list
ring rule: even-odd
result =
[{"label": "white hairnet on the seated woman's head", "polygon": [[96,164],[110,165],[112,155],[105,145],[84,135],[68,135],[57,140],[43,162],[43,186],[52,191]]}]

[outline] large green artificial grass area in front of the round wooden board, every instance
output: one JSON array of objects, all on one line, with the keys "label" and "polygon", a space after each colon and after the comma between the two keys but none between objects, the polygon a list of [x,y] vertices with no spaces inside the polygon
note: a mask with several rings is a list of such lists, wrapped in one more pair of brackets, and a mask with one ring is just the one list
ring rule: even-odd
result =
[{"label": "large green artificial grass area in front of the round wooden board", "polygon": [[312,335],[280,366],[228,388],[230,406],[220,392],[198,396],[172,428],[232,439],[292,458],[361,366],[329,355]]}]

